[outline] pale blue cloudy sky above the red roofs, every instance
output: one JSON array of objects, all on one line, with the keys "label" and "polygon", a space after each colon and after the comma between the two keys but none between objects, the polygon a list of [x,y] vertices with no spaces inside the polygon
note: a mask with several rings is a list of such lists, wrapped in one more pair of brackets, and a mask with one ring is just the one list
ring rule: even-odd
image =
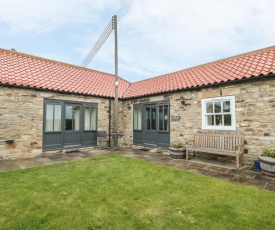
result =
[{"label": "pale blue cloudy sky above the red roofs", "polygon": [[[80,65],[125,0],[0,0],[0,48]],[[133,0],[118,21],[130,81],[275,45],[274,0]],[[87,68],[114,73],[109,37]]]}]

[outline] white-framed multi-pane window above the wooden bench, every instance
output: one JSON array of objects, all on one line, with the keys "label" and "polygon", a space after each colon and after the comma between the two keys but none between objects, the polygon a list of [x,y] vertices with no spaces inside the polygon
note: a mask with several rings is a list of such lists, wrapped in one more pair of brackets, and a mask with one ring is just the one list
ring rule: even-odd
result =
[{"label": "white-framed multi-pane window above the wooden bench", "polygon": [[202,99],[202,128],[235,130],[235,97]]}]

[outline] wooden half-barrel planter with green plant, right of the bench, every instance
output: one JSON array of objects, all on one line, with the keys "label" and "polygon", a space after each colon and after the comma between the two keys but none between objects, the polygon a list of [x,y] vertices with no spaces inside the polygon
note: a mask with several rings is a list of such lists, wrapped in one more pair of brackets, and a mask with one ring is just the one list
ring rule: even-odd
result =
[{"label": "wooden half-barrel planter with green plant, right of the bench", "polygon": [[275,149],[263,149],[259,161],[262,173],[275,177]]}]

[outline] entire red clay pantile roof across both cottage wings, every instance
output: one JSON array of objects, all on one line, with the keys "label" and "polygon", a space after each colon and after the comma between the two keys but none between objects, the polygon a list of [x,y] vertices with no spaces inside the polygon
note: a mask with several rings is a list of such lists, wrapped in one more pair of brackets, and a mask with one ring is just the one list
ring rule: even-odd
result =
[{"label": "entire red clay pantile roof across both cottage wings", "polygon": [[[0,49],[0,83],[114,97],[114,76]],[[133,98],[275,73],[275,46],[130,84],[119,78],[119,97]]]}]

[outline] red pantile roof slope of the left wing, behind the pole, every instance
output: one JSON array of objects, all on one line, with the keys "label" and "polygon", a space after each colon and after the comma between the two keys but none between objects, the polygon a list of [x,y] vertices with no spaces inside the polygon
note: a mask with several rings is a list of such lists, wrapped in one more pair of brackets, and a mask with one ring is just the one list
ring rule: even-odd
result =
[{"label": "red pantile roof slope of the left wing, behind the pole", "polygon": [[[0,83],[114,97],[114,75],[0,49]],[[130,83],[119,78],[119,97]]]}]

